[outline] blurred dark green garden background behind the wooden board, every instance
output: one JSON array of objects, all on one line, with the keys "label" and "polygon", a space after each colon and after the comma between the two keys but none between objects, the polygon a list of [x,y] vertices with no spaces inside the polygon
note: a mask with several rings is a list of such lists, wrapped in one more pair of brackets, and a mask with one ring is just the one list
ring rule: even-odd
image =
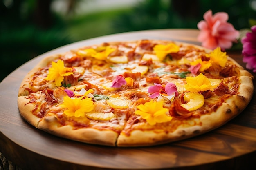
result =
[{"label": "blurred dark green garden background behind the wooden board", "polygon": [[256,0],[0,0],[0,81],[28,60],[79,40],[197,29],[209,9],[227,12],[237,30],[256,25]]}]

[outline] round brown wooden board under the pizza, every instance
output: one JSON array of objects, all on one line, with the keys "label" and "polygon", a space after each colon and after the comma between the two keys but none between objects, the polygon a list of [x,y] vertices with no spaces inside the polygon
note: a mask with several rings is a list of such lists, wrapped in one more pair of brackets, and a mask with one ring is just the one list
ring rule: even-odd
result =
[{"label": "round brown wooden board under the pizza", "polygon": [[[197,35],[195,29],[119,33],[63,46],[23,64],[0,84],[0,151],[24,170],[255,168],[255,94],[247,108],[224,126],[183,141],[150,147],[117,148],[70,141],[37,130],[20,117],[18,88],[27,72],[43,57],[120,40],[164,39],[198,45]],[[245,67],[241,51],[228,51],[227,54]]]}]

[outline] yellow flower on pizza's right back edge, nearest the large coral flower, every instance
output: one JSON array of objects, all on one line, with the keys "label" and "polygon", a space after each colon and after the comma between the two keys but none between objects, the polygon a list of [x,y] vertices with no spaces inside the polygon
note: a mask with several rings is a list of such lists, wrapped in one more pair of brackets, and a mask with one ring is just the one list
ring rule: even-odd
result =
[{"label": "yellow flower on pizza's right back edge, nearest the large coral flower", "polygon": [[219,64],[222,67],[224,67],[227,62],[226,52],[222,52],[220,47],[217,47],[210,54],[206,54],[205,56],[209,57],[211,62]]}]

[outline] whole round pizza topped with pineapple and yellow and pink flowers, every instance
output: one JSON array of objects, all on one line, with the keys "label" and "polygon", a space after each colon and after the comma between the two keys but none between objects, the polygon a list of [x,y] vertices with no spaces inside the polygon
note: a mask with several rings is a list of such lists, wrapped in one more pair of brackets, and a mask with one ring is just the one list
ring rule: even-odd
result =
[{"label": "whole round pizza topped with pineapple and yellow and pink flowers", "polygon": [[41,60],[22,80],[18,109],[29,124],[58,137],[153,146],[236,117],[252,99],[253,78],[219,47],[102,42]]}]

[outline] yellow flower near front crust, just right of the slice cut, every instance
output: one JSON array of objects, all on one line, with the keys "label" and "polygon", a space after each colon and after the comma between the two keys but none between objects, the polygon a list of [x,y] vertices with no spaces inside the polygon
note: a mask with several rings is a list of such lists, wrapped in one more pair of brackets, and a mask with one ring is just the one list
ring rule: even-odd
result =
[{"label": "yellow flower near front crust, just right of the slice cut", "polygon": [[135,111],[135,114],[140,115],[143,119],[146,119],[150,125],[171,121],[172,117],[166,115],[169,110],[163,107],[163,103],[163,101],[156,102],[151,100],[145,104],[140,104],[137,106],[138,110]]}]

